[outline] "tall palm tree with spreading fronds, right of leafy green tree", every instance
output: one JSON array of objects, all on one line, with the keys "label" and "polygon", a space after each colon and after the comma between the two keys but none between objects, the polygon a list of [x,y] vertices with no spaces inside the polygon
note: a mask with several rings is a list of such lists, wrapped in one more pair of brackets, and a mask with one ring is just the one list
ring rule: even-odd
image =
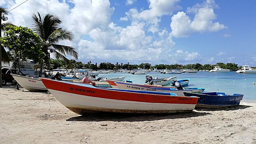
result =
[{"label": "tall palm tree with spreading fronds, right of leafy green tree", "polygon": [[[66,61],[66,54],[78,59],[78,53],[72,46],[58,44],[63,40],[72,42],[73,39],[73,34],[69,30],[60,27],[62,21],[52,14],[45,15],[43,19],[39,12],[37,14],[38,17],[36,14],[32,15],[32,27],[42,41],[42,51],[46,54],[44,63],[49,65],[50,53],[53,53],[55,58]],[[44,63],[41,63],[40,72],[44,68]]]}]

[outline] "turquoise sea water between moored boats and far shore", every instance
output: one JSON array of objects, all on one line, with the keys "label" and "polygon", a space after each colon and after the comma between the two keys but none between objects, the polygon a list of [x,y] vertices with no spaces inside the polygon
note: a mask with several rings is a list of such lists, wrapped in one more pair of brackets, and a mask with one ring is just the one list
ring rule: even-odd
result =
[{"label": "turquoise sea water between moored boats and far shore", "polygon": [[[256,74],[235,74],[235,72],[197,72],[197,73],[182,73],[182,74],[161,74],[159,72],[149,72],[152,77],[175,77],[177,79],[190,78],[189,87],[205,88],[205,92],[224,92],[226,94],[241,93],[244,94],[243,101],[256,100]],[[114,77],[126,76],[126,79],[131,79],[135,84],[144,84],[145,75],[136,75],[129,73],[109,73],[99,74],[99,76]],[[168,86],[168,85],[167,85]]]}]

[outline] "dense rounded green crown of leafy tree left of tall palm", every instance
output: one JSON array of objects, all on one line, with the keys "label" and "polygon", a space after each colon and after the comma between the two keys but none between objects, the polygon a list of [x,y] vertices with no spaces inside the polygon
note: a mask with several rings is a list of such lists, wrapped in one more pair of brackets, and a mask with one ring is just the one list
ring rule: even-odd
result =
[{"label": "dense rounded green crown of leafy tree left of tall palm", "polygon": [[4,37],[0,38],[0,42],[13,52],[16,59],[43,62],[45,54],[41,50],[40,38],[32,30],[22,26],[6,26],[4,30]]}]

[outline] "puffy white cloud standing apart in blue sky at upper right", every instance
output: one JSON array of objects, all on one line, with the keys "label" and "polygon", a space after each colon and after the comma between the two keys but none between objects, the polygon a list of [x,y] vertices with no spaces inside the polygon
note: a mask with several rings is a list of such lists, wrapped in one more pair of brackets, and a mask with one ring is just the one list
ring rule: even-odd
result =
[{"label": "puffy white cloud standing apart in blue sky at upper right", "polygon": [[214,0],[205,0],[202,4],[188,8],[187,12],[195,14],[193,21],[185,12],[178,12],[172,16],[172,22],[170,23],[172,35],[175,37],[187,37],[195,32],[215,32],[227,28],[219,22],[213,22],[217,17],[214,14],[214,8],[216,7]]}]

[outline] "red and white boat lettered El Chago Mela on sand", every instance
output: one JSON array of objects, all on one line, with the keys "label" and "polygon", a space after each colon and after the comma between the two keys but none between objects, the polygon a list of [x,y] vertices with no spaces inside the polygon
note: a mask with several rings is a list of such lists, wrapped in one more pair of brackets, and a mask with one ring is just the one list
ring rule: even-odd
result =
[{"label": "red and white boat lettered El Chago Mela on sand", "polygon": [[44,86],[65,107],[77,114],[97,111],[123,113],[174,113],[192,111],[198,97],[173,93],[96,88],[67,81],[42,79]]}]

